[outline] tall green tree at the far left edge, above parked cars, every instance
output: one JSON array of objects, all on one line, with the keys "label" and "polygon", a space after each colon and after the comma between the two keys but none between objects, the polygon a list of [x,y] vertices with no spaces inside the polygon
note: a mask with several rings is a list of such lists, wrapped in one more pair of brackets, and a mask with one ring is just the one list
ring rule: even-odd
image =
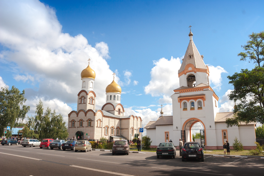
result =
[{"label": "tall green tree at the far left edge, above parked cars", "polygon": [[30,106],[26,106],[25,91],[19,91],[12,86],[9,90],[7,87],[2,87],[0,91],[0,130],[10,126],[10,131],[6,136],[11,136],[12,128],[18,121],[25,119]]}]

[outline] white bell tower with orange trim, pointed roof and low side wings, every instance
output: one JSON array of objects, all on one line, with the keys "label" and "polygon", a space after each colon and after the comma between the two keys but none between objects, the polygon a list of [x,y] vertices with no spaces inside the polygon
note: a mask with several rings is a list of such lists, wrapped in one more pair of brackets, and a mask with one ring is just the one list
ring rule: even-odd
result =
[{"label": "white bell tower with orange trim, pointed roof and low side wings", "polygon": [[236,137],[244,149],[255,148],[256,123],[226,127],[225,122],[233,117],[233,112],[219,112],[219,98],[210,87],[208,66],[204,64],[204,56],[199,54],[192,37],[190,31],[189,45],[178,70],[180,87],[171,96],[173,115],[163,116],[161,110],[161,116],[144,127],[152,140],[151,147],[170,139],[178,146],[180,138],[183,142],[193,141],[192,133],[199,132],[199,142],[206,149],[223,149],[225,141],[233,149]]}]

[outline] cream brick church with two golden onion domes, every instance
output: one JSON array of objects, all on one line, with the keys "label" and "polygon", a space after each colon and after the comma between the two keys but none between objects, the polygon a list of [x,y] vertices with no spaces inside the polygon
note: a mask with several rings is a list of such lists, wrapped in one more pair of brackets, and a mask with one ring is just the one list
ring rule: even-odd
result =
[{"label": "cream brick church with two golden onion domes", "polygon": [[82,70],[81,80],[82,89],[77,96],[77,111],[68,114],[68,138],[133,139],[142,126],[142,119],[133,115],[124,116],[121,87],[113,80],[106,87],[106,103],[101,109],[95,109],[95,72],[90,64]]}]

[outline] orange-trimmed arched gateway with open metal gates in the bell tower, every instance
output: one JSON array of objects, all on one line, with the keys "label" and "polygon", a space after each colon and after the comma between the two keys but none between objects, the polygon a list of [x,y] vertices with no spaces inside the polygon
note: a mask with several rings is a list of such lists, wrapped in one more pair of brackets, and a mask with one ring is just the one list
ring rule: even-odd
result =
[{"label": "orange-trimmed arched gateway with open metal gates in the bell tower", "polygon": [[200,133],[200,144],[202,148],[206,145],[206,136],[205,136],[205,128],[204,123],[196,118],[188,119],[184,122],[181,131],[181,138],[183,143],[193,141],[192,133]]}]

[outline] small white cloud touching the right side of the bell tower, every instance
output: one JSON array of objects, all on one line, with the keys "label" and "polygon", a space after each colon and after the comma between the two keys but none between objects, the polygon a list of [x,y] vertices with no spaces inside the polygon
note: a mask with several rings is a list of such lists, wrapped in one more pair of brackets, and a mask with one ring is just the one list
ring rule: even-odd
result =
[{"label": "small white cloud touching the right side of the bell tower", "polygon": [[209,72],[210,72],[210,76],[209,76],[209,81],[210,83],[214,84],[214,87],[212,87],[212,89],[216,89],[216,90],[221,90],[221,81],[222,81],[222,77],[221,77],[221,73],[227,73],[226,70],[223,67],[220,66],[212,66],[209,65]]}]

